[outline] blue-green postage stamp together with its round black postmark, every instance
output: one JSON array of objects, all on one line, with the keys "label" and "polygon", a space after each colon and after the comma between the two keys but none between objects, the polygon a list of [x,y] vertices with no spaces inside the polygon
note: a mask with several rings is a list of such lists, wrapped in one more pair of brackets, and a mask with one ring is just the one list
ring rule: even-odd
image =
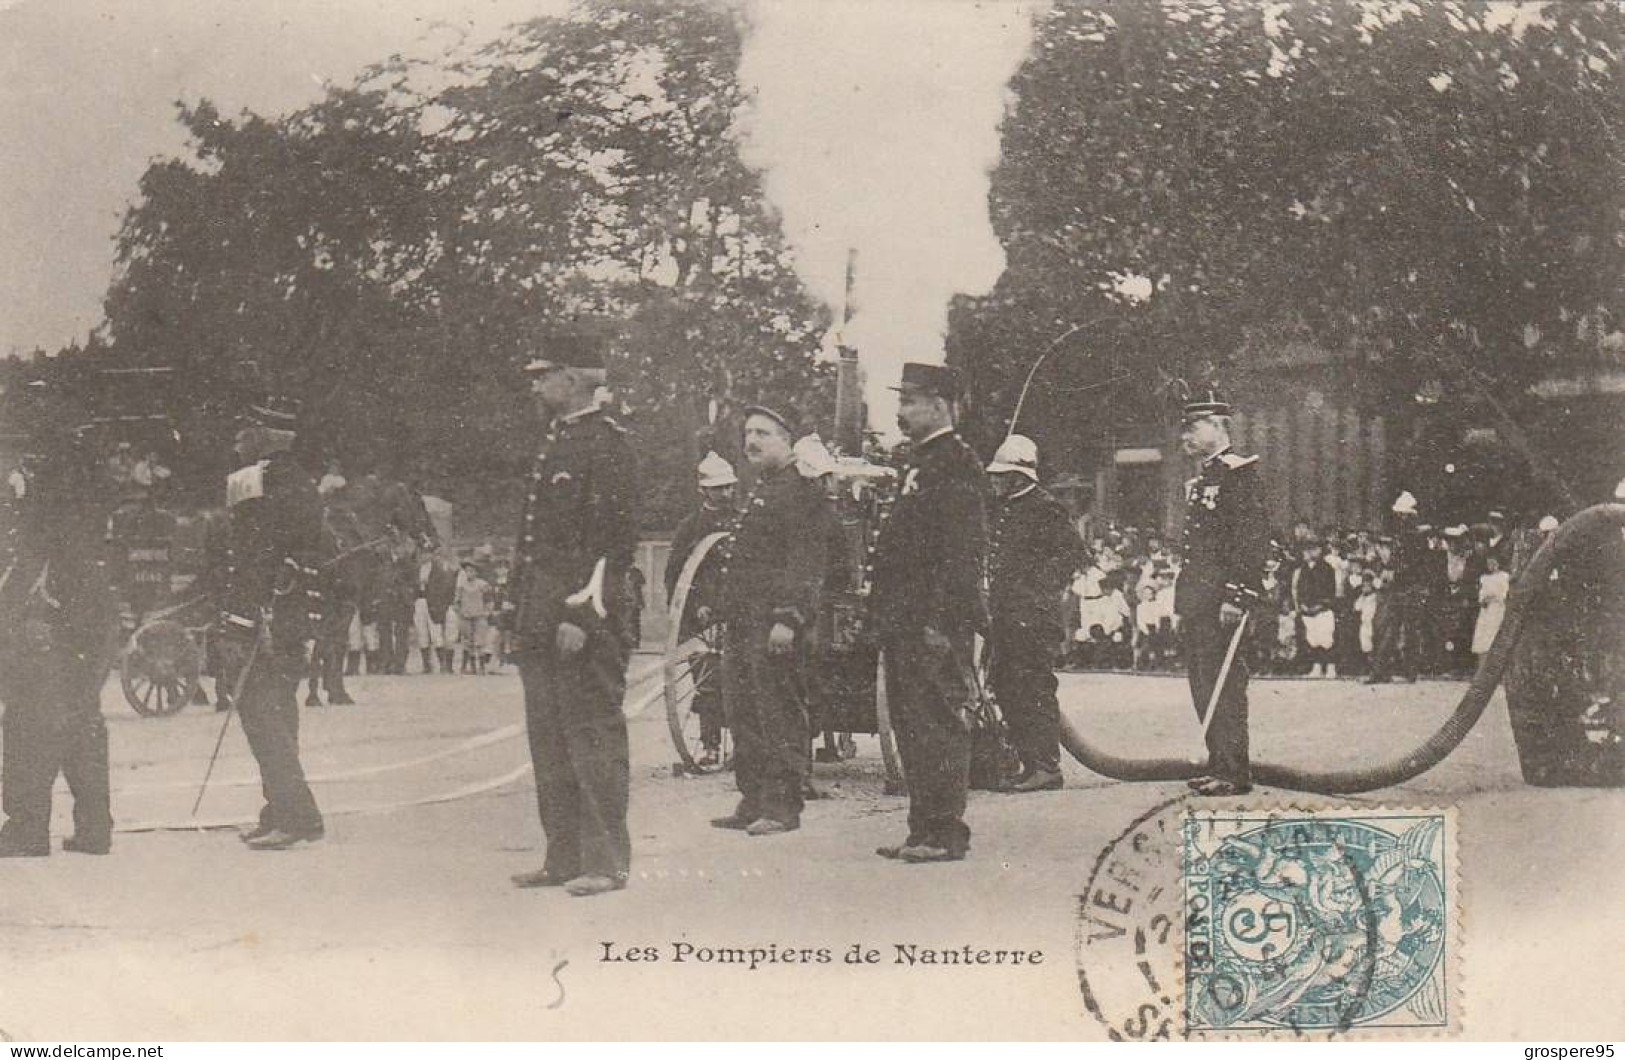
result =
[{"label": "blue-green postage stamp together with its round black postmark", "polygon": [[1086,1010],[1115,1040],[1324,1037],[1441,1011],[1448,909],[1417,855],[1433,837],[1394,824],[1191,797],[1152,806],[1079,896]]}]

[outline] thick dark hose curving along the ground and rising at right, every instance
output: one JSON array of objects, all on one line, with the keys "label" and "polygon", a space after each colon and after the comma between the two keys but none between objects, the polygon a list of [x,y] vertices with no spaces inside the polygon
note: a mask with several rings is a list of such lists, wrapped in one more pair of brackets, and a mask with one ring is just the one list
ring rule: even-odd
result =
[{"label": "thick dark hose curving along the ground and rising at right", "polygon": [[[1472,675],[1467,691],[1462,693],[1451,715],[1420,746],[1388,762],[1337,772],[1254,762],[1253,779],[1258,784],[1295,792],[1354,795],[1404,784],[1438,766],[1461,746],[1461,741],[1484,715],[1484,709],[1513,660],[1529,611],[1539,593],[1547,589],[1558,561],[1580,543],[1618,528],[1625,528],[1625,504],[1597,504],[1568,519],[1536,551],[1513,582],[1500,632],[1490,644],[1490,650],[1479,660],[1479,668]],[[1183,759],[1138,759],[1108,754],[1092,746],[1064,714],[1061,715],[1061,743],[1086,767],[1113,780],[1186,780],[1204,769],[1201,764]]]}]

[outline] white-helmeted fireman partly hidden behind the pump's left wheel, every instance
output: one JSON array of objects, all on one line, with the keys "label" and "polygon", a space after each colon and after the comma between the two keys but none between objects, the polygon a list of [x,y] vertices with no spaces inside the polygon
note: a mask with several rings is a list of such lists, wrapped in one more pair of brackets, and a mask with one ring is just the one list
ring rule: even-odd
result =
[{"label": "white-helmeted fireman partly hidden behind the pump's left wheel", "polygon": [[[678,590],[678,577],[689,554],[713,533],[733,530],[734,509],[733,494],[739,476],[733,465],[715,452],[705,454],[696,468],[699,476],[700,506],[689,512],[678,523],[671,537],[671,551],[666,554],[666,606],[671,606]],[[710,626],[715,619],[720,590],[720,564],[710,572],[700,571],[689,587],[689,606],[682,615],[686,623],[681,636],[689,637],[699,629]],[[723,694],[722,694],[722,655],[700,652],[689,660],[689,673],[694,678],[694,714],[700,719],[700,756],[696,764],[712,769],[722,764],[722,728],[723,728]]]}]

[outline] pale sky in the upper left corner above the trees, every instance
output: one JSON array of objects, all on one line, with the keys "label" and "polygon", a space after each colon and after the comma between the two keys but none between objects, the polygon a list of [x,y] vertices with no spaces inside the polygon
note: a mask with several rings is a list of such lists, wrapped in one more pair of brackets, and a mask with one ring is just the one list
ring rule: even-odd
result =
[{"label": "pale sky in the upper left corner above the trees", "polygon": [[429,57],[564,0],[0,0],[0,354],[101,320],[114,237],[174,102],[284,114],[392,54]]}]

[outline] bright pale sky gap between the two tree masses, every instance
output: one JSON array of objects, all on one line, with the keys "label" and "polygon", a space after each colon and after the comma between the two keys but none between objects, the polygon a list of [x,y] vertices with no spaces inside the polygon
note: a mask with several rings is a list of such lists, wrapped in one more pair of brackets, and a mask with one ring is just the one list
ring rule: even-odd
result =
[{"label": "bright pale sky gap between the two tree masses", "polygon": [[756,0],[752,16],[744,156],[796,272],[837,314],[856,250],[842,340],[858,350],[869,426],[892,436],[902,363],[939,364],[949,299],[1004,272],[988,180],[1032,5]]}]

